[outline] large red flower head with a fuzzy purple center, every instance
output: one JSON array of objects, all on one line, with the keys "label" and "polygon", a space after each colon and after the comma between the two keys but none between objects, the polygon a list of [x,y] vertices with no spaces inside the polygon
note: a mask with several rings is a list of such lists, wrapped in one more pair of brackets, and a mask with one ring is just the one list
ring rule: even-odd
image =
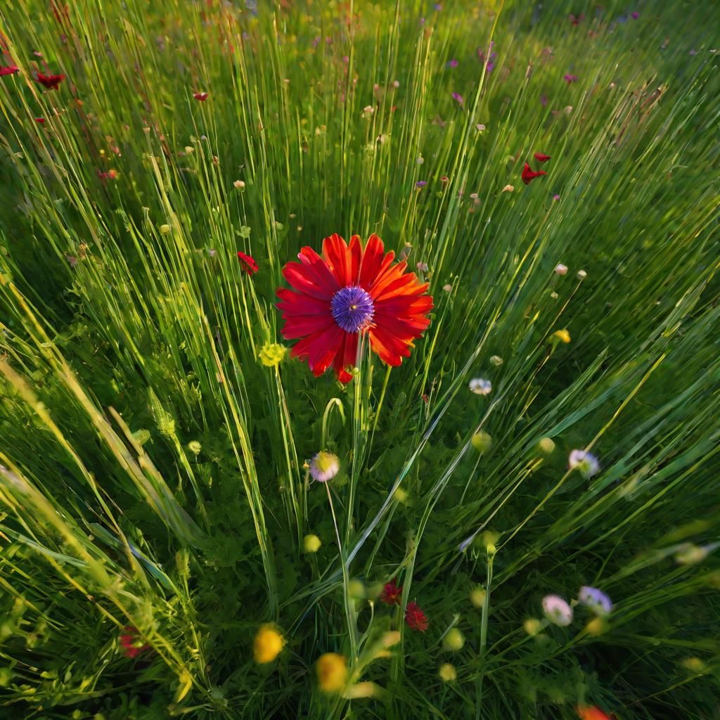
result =
[{"label": "large red flower head with a fuzzy purple center", "polygon": [[430,324],[426,317],[433,299],[405,262],[392,264],[395,253],[384,253],[374,233],[366,246],[353,235],[348,246],[340,235],[323,240],[323,256],[302,248],[299,263],[288,263],[282,274],[295,291],[282,288],[277,304],[285,320],[282,335],[302,338],[292,356],[305,359],[315,377],[335,369],[341,382],[355,364],[359,333],[382,361],[397,366],[410,357],[413,340]]}]

